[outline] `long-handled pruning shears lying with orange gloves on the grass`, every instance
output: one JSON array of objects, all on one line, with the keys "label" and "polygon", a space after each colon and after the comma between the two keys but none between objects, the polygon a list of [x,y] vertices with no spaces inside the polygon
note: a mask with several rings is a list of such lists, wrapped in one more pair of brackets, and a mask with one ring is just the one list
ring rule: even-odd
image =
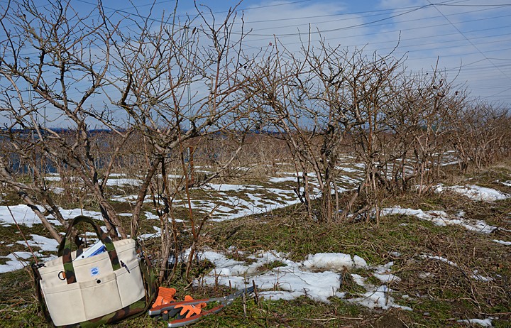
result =
[{"label": "long-handled pruning shears lying with orange gloves on the grass", "polygon": [[[187,324],[197,322],[207,315],[212,315],[224,310],[224,307],[230,305],[236,298],[243,294],[252,293],[253,290],[253,287],[249,287],[224,297],[205,298],[202,300],[194,300],[192,297],[185,297],[185,300],[180,302],[170,302],[153,307],[149,310],[149,315],[150,317],[161,316],[164,320],[168,320],[170,317],[176,317],[177,319],[169,322],[167,327],[183,327]],[[206,307],[207,303],[212,302],[219,302],[220,304],[209,310],[202,311],[202,308]]]}]

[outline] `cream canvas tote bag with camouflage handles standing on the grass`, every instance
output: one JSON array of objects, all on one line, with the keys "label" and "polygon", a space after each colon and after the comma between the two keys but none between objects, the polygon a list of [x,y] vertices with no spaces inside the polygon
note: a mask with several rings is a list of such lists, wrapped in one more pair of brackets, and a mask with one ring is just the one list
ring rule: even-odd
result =
[{"label": "cream canvas tote bag with camouflage handles standing on the grass", "polygon": [[[94,227],[106,251],[75,261],[71,231],[80,222]],[[45,315],[53,325],[94,327],[119,322],[145,312],[150,305],[150,277],[138,260],[135,240],[111,241],[91,218],[79,216],[70,223],[58,255],[34,270],[36,291],[40,302],[44,298]]]}]

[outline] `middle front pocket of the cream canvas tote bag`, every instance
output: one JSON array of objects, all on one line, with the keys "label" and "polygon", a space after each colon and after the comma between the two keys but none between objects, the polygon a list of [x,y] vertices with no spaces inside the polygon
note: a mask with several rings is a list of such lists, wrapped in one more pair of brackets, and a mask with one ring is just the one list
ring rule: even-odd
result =
[{"label": "middle front pocket of the cream canvas tote bag", "polygon": [[114,273],[78,284],[82,290],[87,320],[108,315],[123,307]]}]

